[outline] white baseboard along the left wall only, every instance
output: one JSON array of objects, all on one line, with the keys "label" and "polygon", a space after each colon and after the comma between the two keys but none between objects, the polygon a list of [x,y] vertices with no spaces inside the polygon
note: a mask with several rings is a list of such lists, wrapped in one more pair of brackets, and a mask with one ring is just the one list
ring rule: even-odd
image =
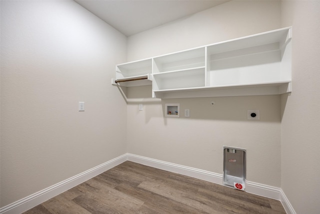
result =
[{"label": "white baseboard along the left wall only", "polygon": [[112,160],[109,160],[105,163],[102,163],[98,166],[95,166],[89,170],[86,170],[80,174],[74,175],[66,180],[63,180],[59,183],[56,183],[52,186],[49,186],[41,191],[33,193],[27,197],[24,197],[18,201],[15,201],[11,204],[3,206],[0,208],[1,214],[17,214],[24,212],[48,199],[54,197],[102,172],[126,161],[126,154],[123,154],[119,157],[116,157]]}]

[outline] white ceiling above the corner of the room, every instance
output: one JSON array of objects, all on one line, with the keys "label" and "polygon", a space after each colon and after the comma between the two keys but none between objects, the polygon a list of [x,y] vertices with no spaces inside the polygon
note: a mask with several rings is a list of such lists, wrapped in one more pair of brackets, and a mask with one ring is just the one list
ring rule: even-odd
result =
[{"label": "white ceiling above the corner of the room", "polygon": [[172,22],[229,0],[74,0],[125,36]]}]

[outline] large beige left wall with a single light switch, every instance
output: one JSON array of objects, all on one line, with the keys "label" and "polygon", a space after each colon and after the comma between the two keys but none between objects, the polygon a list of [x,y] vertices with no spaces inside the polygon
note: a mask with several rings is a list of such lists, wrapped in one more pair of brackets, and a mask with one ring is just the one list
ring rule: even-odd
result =
[{"label": "large beige left wall with a single light switch", "polygon": [[1,207],[126,152],[125,45],[73,1],[1,1]]}]

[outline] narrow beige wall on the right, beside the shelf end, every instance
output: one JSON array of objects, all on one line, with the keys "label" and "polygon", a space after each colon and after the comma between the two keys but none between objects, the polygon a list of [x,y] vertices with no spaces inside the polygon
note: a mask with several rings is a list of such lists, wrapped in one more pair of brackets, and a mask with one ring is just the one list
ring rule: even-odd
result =
[{"label": "narrow beige wall on the right, beside the shelf end", "polygon": [[282,96],[281,188],[296,213],[320,210],[320,2],[283,1],[292,25],[292,93]]}]

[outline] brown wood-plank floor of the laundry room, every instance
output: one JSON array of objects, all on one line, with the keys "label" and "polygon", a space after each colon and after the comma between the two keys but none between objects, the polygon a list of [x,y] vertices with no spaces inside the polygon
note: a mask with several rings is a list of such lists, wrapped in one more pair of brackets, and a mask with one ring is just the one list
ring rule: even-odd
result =
[{"label": "brown wood-plank floor of the laundry room", "polygon": [[277,200],[126,161],[29,213],[285,213]]}]

